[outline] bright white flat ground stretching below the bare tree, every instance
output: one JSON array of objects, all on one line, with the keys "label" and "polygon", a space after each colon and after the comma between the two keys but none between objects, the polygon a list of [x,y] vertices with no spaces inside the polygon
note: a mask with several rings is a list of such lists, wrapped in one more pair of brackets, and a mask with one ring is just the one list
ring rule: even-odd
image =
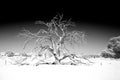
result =
[{"label": "bright white flat ground stretching below the bare tree", "polygon": [[0,58],[0,80],[120,80],[120,60],[105,58],[89,60],[94,63],[21,66],[5,65],[5,60]]}]

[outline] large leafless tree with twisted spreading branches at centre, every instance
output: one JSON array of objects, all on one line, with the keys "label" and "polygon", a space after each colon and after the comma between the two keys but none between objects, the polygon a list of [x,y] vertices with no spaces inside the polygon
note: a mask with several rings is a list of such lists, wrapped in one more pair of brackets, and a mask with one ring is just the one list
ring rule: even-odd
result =
[{"label": "large leafless tree with twisted spreading branches at centre", "polygon": [[[68,31],[68,28],[75,26],[75,23],[71,22],[71,20],[63,20],[63,15],[55,16],[50,22],[37,21],[36,24],[46,25],[47,30],[40,29],[37,33],[32,33],[23,29],[23,32],[19,34],[19,36],[26,38],[23,49],[31,40],[35,39],[33,51],[36,51],[38,55],[42,55],[43,51],[48,50],[55,58],[53,64],[60,63],[66,57],[69,57],[74,62],[74,57],[77,56],[75,53],[71,53],[65,44],[67,42],[71,46],[75,44],[81,45],[85,42],[85,33],[79,30]],[[47,42],[51,45],[45,44]]]}]

